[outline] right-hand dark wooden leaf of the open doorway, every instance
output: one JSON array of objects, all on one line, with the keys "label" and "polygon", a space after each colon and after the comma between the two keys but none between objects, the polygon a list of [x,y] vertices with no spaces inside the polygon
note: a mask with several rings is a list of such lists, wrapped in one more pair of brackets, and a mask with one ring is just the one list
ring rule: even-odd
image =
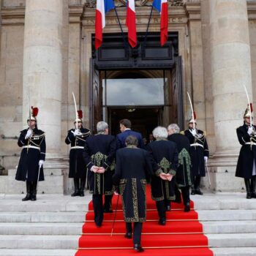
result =
[{"label": "right-hand dark wooden leaf of the open doorway", "polygon": [[182,57],[176,57],[175,67],[172,69],[172,120],[184,129],[184,109],[183,109],[183,75]]}]

